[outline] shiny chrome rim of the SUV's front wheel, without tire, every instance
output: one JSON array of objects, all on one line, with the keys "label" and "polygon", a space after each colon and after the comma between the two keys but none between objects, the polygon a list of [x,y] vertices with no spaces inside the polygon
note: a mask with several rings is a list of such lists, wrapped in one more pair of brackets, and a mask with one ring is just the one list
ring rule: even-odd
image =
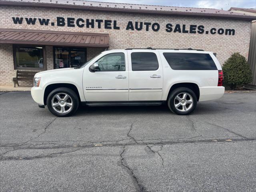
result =
[{"label": "shiny chrome rim of the SUV's front wheel, without tire", "polygon": [[68,113],[72,106],[73,100],[66,93],[58,93],[52,97],[52,108],[58,113]]}]

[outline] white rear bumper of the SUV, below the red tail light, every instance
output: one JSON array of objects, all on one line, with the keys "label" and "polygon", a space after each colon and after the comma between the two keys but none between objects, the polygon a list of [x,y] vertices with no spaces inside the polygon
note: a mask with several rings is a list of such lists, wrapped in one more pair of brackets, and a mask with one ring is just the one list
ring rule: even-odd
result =
[{"label": "white rear bumper of the SUV, below the red tail light", "polygon": [[199,101],[208,101],[222,98],[224,95],[225,87],[216,86],[216,87],[200,87],[200,97]]}]

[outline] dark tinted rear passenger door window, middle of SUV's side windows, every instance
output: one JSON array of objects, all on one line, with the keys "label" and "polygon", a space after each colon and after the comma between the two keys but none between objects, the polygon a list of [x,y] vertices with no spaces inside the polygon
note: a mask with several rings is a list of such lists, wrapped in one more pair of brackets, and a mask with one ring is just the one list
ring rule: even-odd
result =
[{"label": "dark tinted rear passenger door window, middle of SUV's side windows", "polygon": [[133,71],[154,71],[158,69],[158,60],[154,53],[132,53]]}]

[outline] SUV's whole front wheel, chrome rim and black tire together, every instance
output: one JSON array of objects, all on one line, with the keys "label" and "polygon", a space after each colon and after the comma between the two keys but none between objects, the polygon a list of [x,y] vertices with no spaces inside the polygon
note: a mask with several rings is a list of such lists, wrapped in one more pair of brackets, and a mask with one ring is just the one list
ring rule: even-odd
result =
[{"label": "SUV's whole front wheel, chrome rim and black tire together", "polygon": [[72,89],[61,87],[50,92],[46,104],[52,114],[58,117],[66,117],[76,112],[79,99]]}]

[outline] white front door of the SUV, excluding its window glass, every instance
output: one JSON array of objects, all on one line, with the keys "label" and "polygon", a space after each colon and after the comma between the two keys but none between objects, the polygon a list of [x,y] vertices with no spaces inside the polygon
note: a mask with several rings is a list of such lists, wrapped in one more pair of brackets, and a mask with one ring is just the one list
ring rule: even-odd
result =
[{"label": "white front door of the SUV, excluding its window glass", "polygon": [[[85,100],[92,101],[128,101],[128,58],[126,50],[118,50],[114,53],[124,53],[125,71],[95,71],[89,67],[99,58],[111,54],[106,51],[96,57],[90,64],[84,67],[83,90]],[[118,78],[122,76],[123,78]]]}]

